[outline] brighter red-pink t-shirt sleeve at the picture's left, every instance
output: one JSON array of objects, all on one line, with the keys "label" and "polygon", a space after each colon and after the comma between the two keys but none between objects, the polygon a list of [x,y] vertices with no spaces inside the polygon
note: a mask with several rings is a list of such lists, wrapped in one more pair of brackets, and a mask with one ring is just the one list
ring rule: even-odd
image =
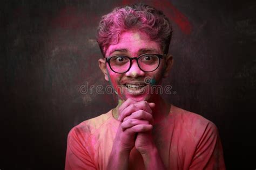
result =
[{"label": "brighter red-pink t-shirt sleeve at the picture's left", "polygon": [[68,135],[65,170],[97,169],[85,145],[82,133],[73,128]]}]

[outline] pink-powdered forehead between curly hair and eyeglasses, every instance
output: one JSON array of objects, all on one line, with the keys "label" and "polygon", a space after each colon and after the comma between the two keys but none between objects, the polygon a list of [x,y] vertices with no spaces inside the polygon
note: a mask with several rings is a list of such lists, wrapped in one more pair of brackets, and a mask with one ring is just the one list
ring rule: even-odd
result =
[{"label": "pink-powdered forehead between curly hair and eyeglasses", "polygon": [[126,31],[120,34],[118,43],[111,44],[109,48],[107,48],[106,56],[120,49],[131,55],[137,55],[139,52],[145,51],[145,49],[150,49],[156,53],[161,52],[158,42],[152,41],[148,34],[141,31]]}]

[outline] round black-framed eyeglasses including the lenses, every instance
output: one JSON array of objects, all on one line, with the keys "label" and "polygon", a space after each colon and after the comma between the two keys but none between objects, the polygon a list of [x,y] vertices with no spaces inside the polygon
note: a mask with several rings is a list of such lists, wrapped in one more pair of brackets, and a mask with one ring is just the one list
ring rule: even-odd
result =
[{"label": "round black-framed eyeglasses including the lenses", "polygon": [[132,66],[132,60],[136,60],[139,68],[144,72],[153,72],[160,65],[160,59],[165,55],[162,54],[142,54],[138,57],[130,58],[125,55],[114,55],[106,58],[110,69],[115,73],[126,73]]}]

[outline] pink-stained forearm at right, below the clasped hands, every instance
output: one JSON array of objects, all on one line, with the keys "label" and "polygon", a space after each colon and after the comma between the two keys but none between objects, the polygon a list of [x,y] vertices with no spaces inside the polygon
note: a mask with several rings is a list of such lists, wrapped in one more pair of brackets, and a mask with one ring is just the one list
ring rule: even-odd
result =
[{"label": "pink-stained forearm at right, below the clasped hands", "polygon": [[166,169],[160,158],[157,147],[152,147],[149,152],[142,153],[146,169]]}]

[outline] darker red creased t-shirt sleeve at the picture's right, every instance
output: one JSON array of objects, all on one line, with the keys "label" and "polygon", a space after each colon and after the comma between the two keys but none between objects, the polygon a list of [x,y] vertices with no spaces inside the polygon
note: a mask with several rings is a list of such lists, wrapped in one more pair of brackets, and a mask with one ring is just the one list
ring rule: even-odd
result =
[{"label": "darker red creased t-shirt sleeve at the picture's right", "polygon": [[218,129],[212,122],[209,122],[203,131],[190,169],[225,169]]}]

